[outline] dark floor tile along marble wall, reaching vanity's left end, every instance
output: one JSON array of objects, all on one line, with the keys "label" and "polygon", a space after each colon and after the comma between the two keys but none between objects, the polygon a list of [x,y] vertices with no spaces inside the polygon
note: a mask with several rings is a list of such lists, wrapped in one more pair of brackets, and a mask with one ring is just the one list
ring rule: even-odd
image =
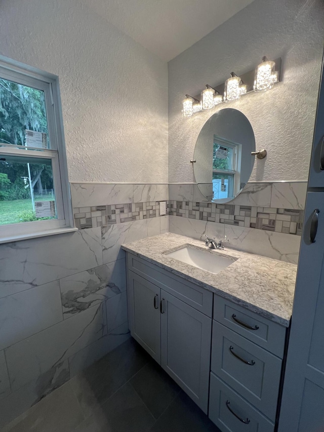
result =
[{"label": "dark floor tile along marble wall, reaching vanity's left end", "polygon": [[70,382],[84,415],[89,416],[145,366],[148,360],[146,351],[131,338],[72,378]]}]

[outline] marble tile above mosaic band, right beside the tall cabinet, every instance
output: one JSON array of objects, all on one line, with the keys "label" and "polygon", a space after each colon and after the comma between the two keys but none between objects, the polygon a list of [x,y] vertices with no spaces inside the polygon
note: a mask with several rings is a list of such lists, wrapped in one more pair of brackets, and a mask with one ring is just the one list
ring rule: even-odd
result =
[{"label": "marble tile above mosaic band, right beside the tall cabinet", "polygon": [[273,183],[270,207],[304,210],[306,192],[307,182]]}]

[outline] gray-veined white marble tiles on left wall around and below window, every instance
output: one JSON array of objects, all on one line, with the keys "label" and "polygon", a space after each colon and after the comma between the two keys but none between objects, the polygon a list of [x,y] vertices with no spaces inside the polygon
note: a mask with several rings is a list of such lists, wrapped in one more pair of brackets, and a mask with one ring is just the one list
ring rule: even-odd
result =
[{"label": "gray-veined white marble tiles on left wall around and below window", "polygon": [[169,230],[156,204],[167,184],[71,184],[71,195],[79,213],[104,204],[120,220],[0,245],[0,429],[130,337],[120,245]]}]

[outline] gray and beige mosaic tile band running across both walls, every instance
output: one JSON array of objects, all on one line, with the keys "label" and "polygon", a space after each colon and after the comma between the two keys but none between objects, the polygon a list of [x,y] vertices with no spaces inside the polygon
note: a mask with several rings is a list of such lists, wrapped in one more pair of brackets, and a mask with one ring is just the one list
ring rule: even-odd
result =
[{"label": "gray and beige mosaic tile band running across both walls", "polygon": [[[149,201],[76,207],[73,210],[75,226],[84,229],[159,217],[159,209],[159,201]],[[167,201],[167,215],[301,235],[304,210]]]}]

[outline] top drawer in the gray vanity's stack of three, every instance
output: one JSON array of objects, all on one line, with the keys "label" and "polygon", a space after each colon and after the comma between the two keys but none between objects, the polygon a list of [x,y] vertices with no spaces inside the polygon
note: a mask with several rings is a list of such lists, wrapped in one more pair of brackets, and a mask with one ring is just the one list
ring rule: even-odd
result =
[{"label": "top drawer in the gray vanity's stack of three", "polygon": [[284,357],[286,327],[216,294],[214,294],[214,320],[273,352],[281,359]]}]

